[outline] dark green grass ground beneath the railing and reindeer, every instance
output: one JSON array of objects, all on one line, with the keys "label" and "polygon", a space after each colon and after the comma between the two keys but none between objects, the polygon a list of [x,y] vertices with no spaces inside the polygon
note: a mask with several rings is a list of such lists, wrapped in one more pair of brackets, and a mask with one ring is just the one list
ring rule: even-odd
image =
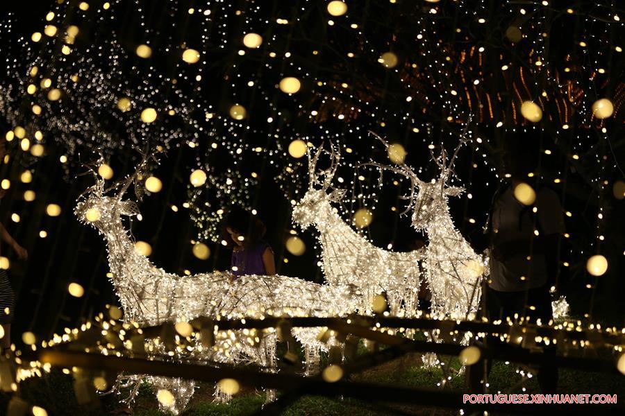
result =
[{"label": "dark green grass ground beneath the railing and reindeer", "polygon": [[[455,358],[448,363],[451,367],[457,366]],[[535,378],[529,379],[523,385],[522,376],[515,370],[514,365],[495,363],[490,374],[491,391],[508,392],[514,388],[520,392],[524,387],[527,392],[538,392]],[[381,383],[385,385],[403,385],[412,387],[433,387],[443,379],[440,369],[424,370],[418,354],[409,354],[390,363],[385,363],[372,370],[353,376],[358,381]],[[464,377],[456,376],[449,383],[451,388],[464,388]],[[625,383],[622,376],[606,375],[592,372],[577,372],[560,370],[559,392],[562,393],[610,393],[625,397]],[[251,415],[258,411],[265,401],[262,390],[243,390],[230,404],[213,404],[213,385],[201,383],[193,399],[190,401],[184,416],[208,415]],[[124,415],[131,413],[138,416],[164,416],[158,410],[156,397],[149,385],[143,385],[133,409],[130,411],[120,406],[115,396],[101,398],[98,409],[88,410],[79,406],[74,396],[72,376],[59,371],[41,378],[22,383],[20,395],[31,404],[47,409],[50,416],[54,415]],[[0,394],[0,415],[6,414],[6,405],[10,396]],[[284,411],[284,415],[431,415],[432,408],[422,406],[397,406],[392,404],[363,403],[352,399],[328,399],[324,397],[302,397]],[[455,415],[453,411],[437,410],[437,415]]]}]

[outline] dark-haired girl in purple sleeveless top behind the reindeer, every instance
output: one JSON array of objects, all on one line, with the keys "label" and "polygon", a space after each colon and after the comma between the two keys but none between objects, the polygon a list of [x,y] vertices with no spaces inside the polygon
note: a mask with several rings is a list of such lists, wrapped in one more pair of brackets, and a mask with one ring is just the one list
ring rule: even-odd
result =
[{"label": "dark-haired girl in purple sleeveless top behind the reindeer", "polygon": [[226,217],[226,231],[235,243],[231,270],[242,275],[275,275],[274,251],[263,241],[267,228],[248,211],[235,208]]}]

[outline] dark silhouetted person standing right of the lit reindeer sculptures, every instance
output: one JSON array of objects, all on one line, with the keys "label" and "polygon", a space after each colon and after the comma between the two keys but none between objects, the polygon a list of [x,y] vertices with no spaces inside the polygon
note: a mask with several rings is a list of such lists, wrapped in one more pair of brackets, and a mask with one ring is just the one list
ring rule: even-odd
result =
[{"label": "dark silhouetted person standing right of the lit reindeer sculptures", "polygon": [[[524,157],[517,147],[508,150],[504,163],[507,180],[493,198],[487,224],[490,277],[483,293],[483,315],[490,322],[523,318],[547,324],[553,319],[550,292],[556,286],[559,239],[564,232],[562,206],[553,190],[537,186],[535,180],[535,190],[525,183],[528,173],[535,173],[530,155]],[[487,337],[486,343],[509,347],[496,336]],[[555,354],[553,345],[544,348]],[[491,365],[488,361],[469,367],[469,390],[483,390]],[[543,365],[537,379],[543,392],[555,392],[557,367]]]}]

